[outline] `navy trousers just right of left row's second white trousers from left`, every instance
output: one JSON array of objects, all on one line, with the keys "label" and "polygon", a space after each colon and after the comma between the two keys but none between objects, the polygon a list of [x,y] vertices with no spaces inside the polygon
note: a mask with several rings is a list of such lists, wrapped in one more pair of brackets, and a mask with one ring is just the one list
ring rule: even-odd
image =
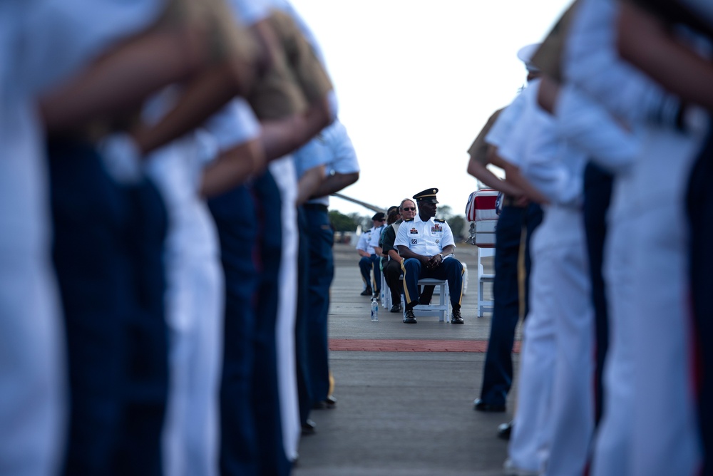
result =
[{"label": "navy trousers just right of left row's second white trousers from left", "polygon": [[208,200],[225,273],[225,323],[220,382],[220,474],[257,475],[252,385],[255,378],[257,217],[247,186]]}]

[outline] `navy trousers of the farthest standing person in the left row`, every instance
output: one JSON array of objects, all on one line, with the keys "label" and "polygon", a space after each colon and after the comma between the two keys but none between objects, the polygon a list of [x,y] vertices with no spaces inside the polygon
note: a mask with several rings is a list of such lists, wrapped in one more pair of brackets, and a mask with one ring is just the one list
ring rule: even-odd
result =
[{"label": "navy trousers of the farthest standing person in the left row", "polygon": [[[307,284],[307,372],[312,403],[323,401],[329,393],[329,287],[334,279],[334,229],[327,209],[304,207],[309,242],[309,281]],[[379,264],[377,262],[376,266]]]}]

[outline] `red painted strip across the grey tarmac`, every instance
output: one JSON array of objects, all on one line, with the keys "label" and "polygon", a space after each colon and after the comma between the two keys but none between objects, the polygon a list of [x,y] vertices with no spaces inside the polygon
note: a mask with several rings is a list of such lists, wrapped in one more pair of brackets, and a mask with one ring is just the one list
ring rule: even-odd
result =
[{"label": "red painted strip across the grey tarmac", "polygon": [[[366,352],[485,352],[488,341],[443,341],[426,339],[329,339],[330,351]],[[520,342],[515,342],[515,353],[520,352]]]}]

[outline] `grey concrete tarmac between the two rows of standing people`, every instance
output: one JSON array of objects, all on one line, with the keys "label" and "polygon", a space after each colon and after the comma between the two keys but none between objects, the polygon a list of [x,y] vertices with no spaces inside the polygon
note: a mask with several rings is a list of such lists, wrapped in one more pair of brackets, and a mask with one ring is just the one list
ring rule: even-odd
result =
[{"label": "grey concrete tarmac between the two rows of standing people", "polygon": [[476,318],[477,252],[469,244],[456,249],[468,266],[465,324],[438,316],[404,324],[383,306],[373,323],[369,298],[359,296],[358,254],[335,245],[329,337],[337,406],[312,411],[317,432],[302,437],[295,476],[503,474],[507,442],[497,428],[512,418],[517,378],[507,413],[473,410],[491,320]]}]

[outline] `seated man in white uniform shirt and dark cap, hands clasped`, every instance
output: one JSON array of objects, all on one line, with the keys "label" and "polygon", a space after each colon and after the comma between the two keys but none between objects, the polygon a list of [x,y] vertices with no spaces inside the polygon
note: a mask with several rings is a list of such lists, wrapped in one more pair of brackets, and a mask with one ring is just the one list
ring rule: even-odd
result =
[{"label": "seated man in white uniform shirt and dark cap, hands clasped", "polygon": [[419,304],[419,279],[446,279],[451,294],[453,315],[451,324],[463,324],[461,296],[463,295],[463,265],[455,257],[453,233],[446,220],[436,216],[437,188],[429,188],[414,195],[419,214],[404,220],[396,234],[394,245],[404,258],[404,322],[416,324],[414,307]]}]

